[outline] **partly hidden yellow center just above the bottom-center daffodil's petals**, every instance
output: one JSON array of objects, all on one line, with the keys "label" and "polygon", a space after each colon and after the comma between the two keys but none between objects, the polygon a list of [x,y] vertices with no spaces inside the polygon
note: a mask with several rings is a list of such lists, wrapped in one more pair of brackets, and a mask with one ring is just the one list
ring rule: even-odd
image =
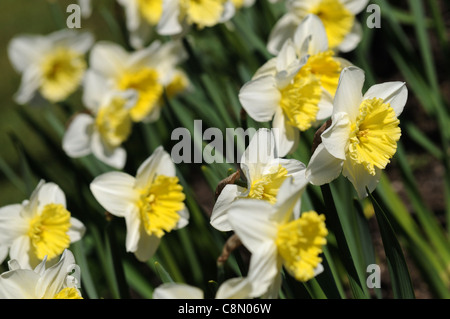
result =
[{"label": "partly hidden yellow center just above the bottom-center daffodil's petals", "polygon": [[264,174],[252,182],[248,197],[267,200],[271,204],[275,204],[278,190],[288,177],[287,173],[287,169],[281,165],[271,167],[268,174]]}]

